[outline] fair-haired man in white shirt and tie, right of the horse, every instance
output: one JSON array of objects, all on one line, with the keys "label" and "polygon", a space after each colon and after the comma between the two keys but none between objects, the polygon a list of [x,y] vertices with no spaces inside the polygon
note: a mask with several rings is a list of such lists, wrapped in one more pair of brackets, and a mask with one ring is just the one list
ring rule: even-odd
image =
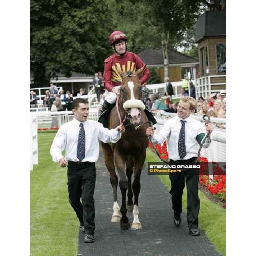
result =
[{"label": "fair-haired man in white shirt and tie, right of the horse", "polygon": [[[163,125],[158,134],[154,134],[153,128],[147,128],[146,134],[152,136],[152,143],[162,144],[166,139],[169,148],[170,164],[194,165],[198,157],[199,145],[201,145],[206,132],[211,133],[213,125],[206,127],[198,120],[190,116],[195,111],[197,103],[192,97],[181,97],[177,107],[177,116],[169,119]],[[204,148],[209,147],[204,143]],[[198,214],[200,200],[198,197],[199,170],[196,172],[183,171],[181,174],[172,175],[171,180],[172,209],[174,211],[175,227],[180,227],[182,212],[183,189],[187,187],[187,223],[191,236],[200,236],[198,230]]]}]

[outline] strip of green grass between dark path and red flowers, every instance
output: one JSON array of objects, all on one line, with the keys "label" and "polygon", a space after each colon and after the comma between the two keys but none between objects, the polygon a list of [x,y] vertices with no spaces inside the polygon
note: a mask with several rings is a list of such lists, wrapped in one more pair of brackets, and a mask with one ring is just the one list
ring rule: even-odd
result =
[{"label": "strip of green grass between dark path and red flowers", "polygon": [[[160,159],[151,149],[147,149],[147,158],[145,162],[160,162]],[[171,182],[169,175],[157,175],[162,183],[170,190]],[[226,251],[226,211],[220,205],[210,201],[206,195],[199,191],[200,212],[199,227],[204,230],[210,241],[215,245],[217,250],[225,255]],[[183,211],[186,212],[186,186],[183,197]]]}]

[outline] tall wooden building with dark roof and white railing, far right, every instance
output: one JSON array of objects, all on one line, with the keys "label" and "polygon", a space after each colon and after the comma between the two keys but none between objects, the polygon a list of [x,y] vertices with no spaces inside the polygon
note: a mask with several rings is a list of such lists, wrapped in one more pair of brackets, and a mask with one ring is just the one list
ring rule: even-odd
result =
[{"label": "tall wooden building with dark roof and white railing, far right", "polygon": [[196,23],[200,76],[197,98],[226,89],[226,11],[207,11]]}]

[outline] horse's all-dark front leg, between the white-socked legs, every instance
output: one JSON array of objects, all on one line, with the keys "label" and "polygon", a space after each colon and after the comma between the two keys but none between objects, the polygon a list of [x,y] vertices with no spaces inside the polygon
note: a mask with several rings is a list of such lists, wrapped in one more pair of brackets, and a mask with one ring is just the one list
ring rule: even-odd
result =
[{"label": "horse's all-dark front leg, between the white-socked legs", "polygon": [[125,162],[127,157],[121,155],[117,150],[114,151],[114,160],[116,164],[116,169],[119,174],[119,187],[122,194],[122,205],[121,205],[121,220],[120,220],[120,228],[121,230],[128,230],[130,228],[130,223],[127,217],[127,209],[126,209],[126,192],[128,189],[128,179],[125,174]]}]

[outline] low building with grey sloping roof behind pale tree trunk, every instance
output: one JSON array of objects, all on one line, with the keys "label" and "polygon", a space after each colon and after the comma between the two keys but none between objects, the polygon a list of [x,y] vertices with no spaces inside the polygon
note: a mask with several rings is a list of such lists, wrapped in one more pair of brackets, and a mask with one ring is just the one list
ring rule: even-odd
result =
[{"label": "low building with grey sloping roof behind pale tree trunk", "polygon": [[[163,55],[161,49],[147,48],[137,53],[147,64],[154,68],[161,82],[164,82]],[[199,64],[197,58],[192,58],[181,52],[169,50],[169,80],[170,82],[184,79],[186,72],[190,72],[191,79],[196,78],[196,66]]]}]

